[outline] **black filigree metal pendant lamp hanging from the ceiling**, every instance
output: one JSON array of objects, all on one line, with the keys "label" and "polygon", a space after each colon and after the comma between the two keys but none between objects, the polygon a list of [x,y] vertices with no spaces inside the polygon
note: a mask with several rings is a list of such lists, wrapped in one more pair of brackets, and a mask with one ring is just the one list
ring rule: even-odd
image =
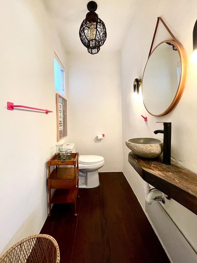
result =
[{"label": "black filigree metal pendant lamp hanging from the ceiling", "polygon": [[79,29],[79,37],[82,44],[87,48],[90,54],[96,54],[100,47],[104,44],[107,38],[106,27],[103,21],[95,13],[97,4],[90,1],[87,4],[87,9],[90,11],[86,14]]}]

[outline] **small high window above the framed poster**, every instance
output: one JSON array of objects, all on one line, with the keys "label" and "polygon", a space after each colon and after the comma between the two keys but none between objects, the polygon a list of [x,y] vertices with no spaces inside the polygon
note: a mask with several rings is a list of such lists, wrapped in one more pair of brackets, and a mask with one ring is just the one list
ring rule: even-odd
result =
[{"label": "small high window above the framed poster", "polygon": [[54,77],[55,77],[55,90],[65,97],[65,72],[64,66],[59,60],[58,56],[54,54]]}]

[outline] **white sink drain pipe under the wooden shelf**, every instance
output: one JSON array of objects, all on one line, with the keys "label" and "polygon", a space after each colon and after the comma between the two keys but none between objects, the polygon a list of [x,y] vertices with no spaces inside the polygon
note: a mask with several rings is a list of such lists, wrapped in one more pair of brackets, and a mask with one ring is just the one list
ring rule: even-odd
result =
[{"label": "white sink drain pipe under the wooden shelf", "polygon": [[164,197],[166,195],[161,191],[157,190],[156,188],[152,188],[149,186],[149,183],[144,181],[144,192],[145,192],[145,199],[147,204],[151,204],[154,200],[162,201],[165,203]]}]

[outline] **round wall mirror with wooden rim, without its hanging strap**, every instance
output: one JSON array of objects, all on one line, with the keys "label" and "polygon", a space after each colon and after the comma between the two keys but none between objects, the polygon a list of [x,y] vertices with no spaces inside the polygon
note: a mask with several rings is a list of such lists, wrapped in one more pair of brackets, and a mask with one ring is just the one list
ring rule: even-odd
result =
[{"label": "round wall mirror with wooden rim, without its hanging strap", "polygon": [[179,102],[187,76],[187,57],[183,46],[165,40],[155,47],[143,73],[144,106],[153,116],[171,112]]}]

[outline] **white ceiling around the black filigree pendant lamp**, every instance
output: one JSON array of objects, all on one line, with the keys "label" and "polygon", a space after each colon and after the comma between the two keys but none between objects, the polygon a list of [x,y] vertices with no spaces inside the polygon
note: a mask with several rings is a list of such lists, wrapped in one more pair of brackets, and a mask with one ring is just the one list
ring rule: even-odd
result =
[{"label": "white ceiling around the black filigree pendant lamp", "polygon": [[[42,0],[53,19],[66,52],[87,52],[79,38],[79,28],[86,17],[87,0]],[[133,16],[137,0],[96,0],[96,13],[103,20],[107,39],[102,51],[119,51]]]}]

